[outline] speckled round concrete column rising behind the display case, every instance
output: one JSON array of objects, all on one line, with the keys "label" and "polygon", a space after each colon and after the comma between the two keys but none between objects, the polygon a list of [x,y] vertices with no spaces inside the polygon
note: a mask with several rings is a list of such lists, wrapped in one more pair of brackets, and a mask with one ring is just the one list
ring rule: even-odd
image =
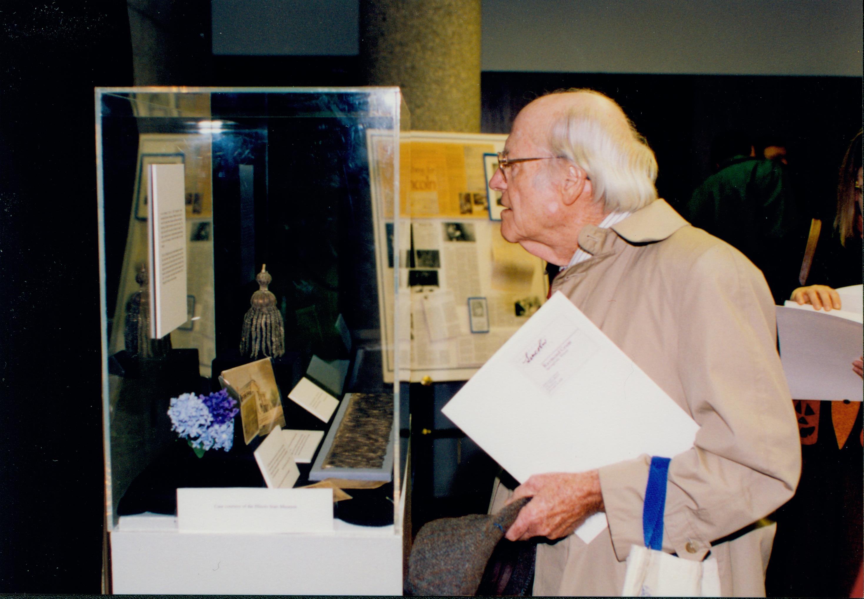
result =
[{"label": "speckled round concrete column rising behind the display case", "polygon": [[480,0],[360,0],[360,61],[416,131],[480,131]]}]

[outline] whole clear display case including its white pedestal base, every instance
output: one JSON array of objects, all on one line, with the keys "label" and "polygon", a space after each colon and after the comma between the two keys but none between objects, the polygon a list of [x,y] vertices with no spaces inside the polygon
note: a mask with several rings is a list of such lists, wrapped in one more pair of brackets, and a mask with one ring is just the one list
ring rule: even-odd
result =
[{"label": "whole clear display case including its white pedestal base", "polygon": [[[113,592],[401,594],[408,386],[393,373],[410,360],[398,318],[410,298],[393,248],[405,245],[394,198],[408,129],[395,87],[96,90]],[[162,172],[179,173],[173,216],[152,199]],[[182,246],[174,262],[155,254],[168,242]],[[252,361],[240,346],[264,264],[283,321],[271,365],[286,428],[327,437],[333,426],[289,398],[304,377],[337,400],[389,398],[390,481],[347,490],[333,531],[182,532],[177,488],[265,487],[262,437],[245,443],[239,414],[232,449],[203,456],[168,417],[171,398],[219,391],[220,373]],[[178,277],[185,286],[170,290]],[[314,482],[311,467],[298,464],[295,486]]]}]

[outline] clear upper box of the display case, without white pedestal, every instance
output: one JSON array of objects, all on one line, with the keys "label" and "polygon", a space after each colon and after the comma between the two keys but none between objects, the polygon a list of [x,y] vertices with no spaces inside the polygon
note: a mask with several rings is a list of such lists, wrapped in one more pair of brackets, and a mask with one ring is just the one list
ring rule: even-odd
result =
[{"label": "clear upper box of the display case, without white pedestal", "polygon": [[[398,88],[98,88],[96,127],[109,529],[124,514],[173,513],[177,487],[263,487],[252,451],[264,424],[281,415],[329,436],[334,413],[289,398],[308,379],[337,401],[380,397],[391,481],[334,510],[401,534]],[[263,282],[275,301],[261,299]],[[257,393],[257,412],[232,417],[231,443],[223,434],[198,456],[176,413],[172,430],[171,398],[218,392],[220,373],[264,358],[270,395],[261,381],[232,388],[244,406]],[[251,418],[261,427],[247,444]],[[340,463],[356,464],[346,450],[362,454],[362,439],[340,438]],[[311,481],[312,464],[298,466],[297,484]]]}]

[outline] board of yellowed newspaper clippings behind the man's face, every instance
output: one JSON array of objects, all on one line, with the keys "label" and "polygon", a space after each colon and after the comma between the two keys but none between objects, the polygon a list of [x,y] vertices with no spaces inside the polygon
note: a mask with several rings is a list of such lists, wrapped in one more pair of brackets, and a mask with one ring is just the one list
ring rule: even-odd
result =
[{"label": "board of yellowed newspaper clippings behind the man's face", "polygon": [[379,146],[391,142],[370,132],[373,206],[385,220],[376,245],[388,381],[395,376],[394,336],[387,326],[394,311],[401,323],[401,379],[465,380],[545,300],[543,260],[505,241],[500,221],[490,219],[484,160],[503,149],[505,138],[411,133],[400,144],[400,218],[393,222],[393,203],[384,189],[391,174],[375,163],[384,152]]}]

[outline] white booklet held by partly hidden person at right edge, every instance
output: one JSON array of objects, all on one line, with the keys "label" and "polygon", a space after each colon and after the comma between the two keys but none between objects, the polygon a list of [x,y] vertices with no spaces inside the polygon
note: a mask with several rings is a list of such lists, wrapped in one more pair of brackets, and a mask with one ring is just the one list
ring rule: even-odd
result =
[{"label": "white booklet held by partly hidden person at right edge", "polygon": [[842,302],[844,309],[830,312],[790,301],[777,307],[780,361],[792,398],[861,401],[864,396],[861,377],[852,370],[852,360],[861,355],[864,319]]}]

